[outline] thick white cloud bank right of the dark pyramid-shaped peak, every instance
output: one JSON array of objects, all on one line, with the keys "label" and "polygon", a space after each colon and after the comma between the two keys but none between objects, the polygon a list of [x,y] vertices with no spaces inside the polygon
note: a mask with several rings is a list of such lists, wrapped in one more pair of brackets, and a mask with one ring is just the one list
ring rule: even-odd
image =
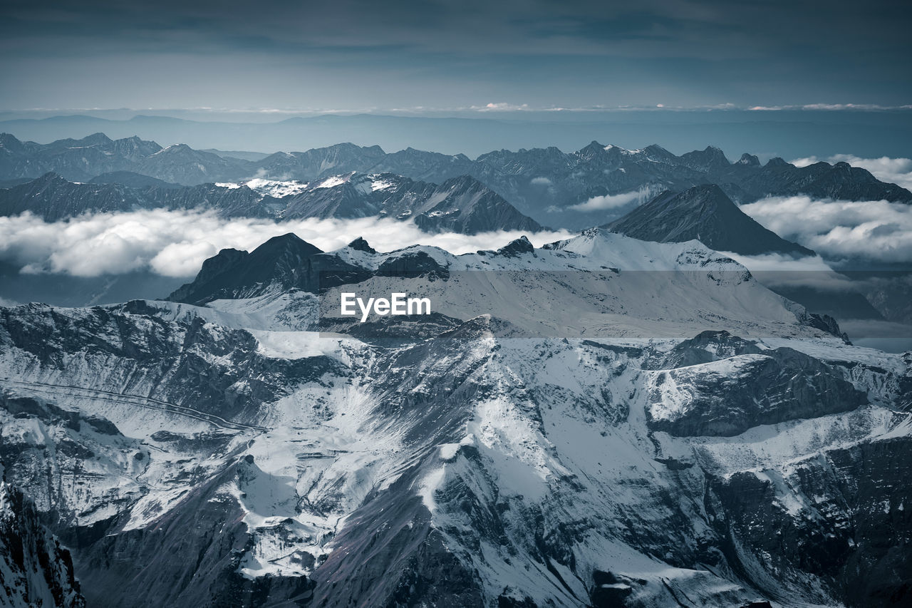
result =
[{"label": "thick white cloud bank right of the dark pyramid-shaped peak", "polygon": [[777,196],[742,205],[741,211],[777,235],[811,247],[827,260],[912,260],[909,204]]}]

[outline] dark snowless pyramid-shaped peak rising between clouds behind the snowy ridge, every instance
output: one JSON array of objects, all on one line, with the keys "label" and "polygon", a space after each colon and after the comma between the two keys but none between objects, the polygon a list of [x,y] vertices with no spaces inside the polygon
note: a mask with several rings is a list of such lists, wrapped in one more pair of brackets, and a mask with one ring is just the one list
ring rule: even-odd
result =
[{"label": "dark snowless pyramid-shaped peak rising between clouds behind the snowy ridge", "polygon": [[658,243],[696,239],[717,251],[744,255],[814,255],[810,249],[786,241],[757,223],[715,184],[694,186],[682,193],[659,194],[605,227]]}]

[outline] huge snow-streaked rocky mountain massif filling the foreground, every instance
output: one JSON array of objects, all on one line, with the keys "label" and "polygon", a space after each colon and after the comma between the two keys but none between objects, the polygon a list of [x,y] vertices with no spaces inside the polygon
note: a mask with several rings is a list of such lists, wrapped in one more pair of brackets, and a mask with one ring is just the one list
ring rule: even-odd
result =
[{"label": "huge snow-streaked rocky mountain massif filling the foreground", "polygon": [[[435,314],[359,338],[317,263]],[[0,309],[7,478],[90,605],[909,601],[912,354],[699,242],[283,236],[171,300]]]}]

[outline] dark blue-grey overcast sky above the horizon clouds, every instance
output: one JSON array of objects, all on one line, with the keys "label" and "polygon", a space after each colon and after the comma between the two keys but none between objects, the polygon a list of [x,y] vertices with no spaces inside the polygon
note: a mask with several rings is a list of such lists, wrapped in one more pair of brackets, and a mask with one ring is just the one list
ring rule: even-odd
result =
[{"label": "dark blue-grey overcast sky above the horizon clouds", "polygon": [[895,107],[908,5],[5,0],[0,109]]}]

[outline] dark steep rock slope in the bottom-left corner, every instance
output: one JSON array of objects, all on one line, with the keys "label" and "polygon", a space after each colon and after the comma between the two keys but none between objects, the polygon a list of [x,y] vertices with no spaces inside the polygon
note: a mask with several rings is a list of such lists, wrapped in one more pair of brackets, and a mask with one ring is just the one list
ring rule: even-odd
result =
[{"label": "dark steep rock slope in the bottom-left corner", "polygon": [[[0,467],[2,468],[2,467]],[[0,482],[0,604],[84,608],[69,551],[22,492]]]}]

